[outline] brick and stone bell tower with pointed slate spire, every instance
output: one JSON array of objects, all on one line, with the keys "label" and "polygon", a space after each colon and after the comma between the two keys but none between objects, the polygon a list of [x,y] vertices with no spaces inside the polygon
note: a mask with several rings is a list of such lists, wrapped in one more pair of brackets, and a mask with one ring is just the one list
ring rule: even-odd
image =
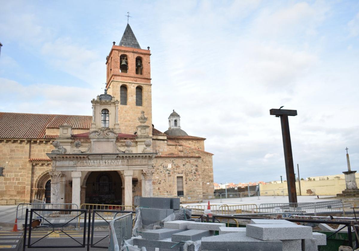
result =
[{"label": "brick and stone bell tower with pointed slate spire", "polygon": [[120,101],[118,123],[121,133],[134,134],[138,116],[144,111],[152,135],[150,50],[141,49],[129,24],[118,45],[106,57],[108,94]]}]

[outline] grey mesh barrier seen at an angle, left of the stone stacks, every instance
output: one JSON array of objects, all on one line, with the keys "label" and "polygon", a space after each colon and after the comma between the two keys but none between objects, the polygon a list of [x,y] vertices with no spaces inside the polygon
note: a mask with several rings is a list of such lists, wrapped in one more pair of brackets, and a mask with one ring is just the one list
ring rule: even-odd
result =
[{"label": "grey mesh barrier seen at an angle, left of the stone stacks", "polygon": [[109,251],[118,251],[132,236],[132,213],[117,217],[110,222]]}]

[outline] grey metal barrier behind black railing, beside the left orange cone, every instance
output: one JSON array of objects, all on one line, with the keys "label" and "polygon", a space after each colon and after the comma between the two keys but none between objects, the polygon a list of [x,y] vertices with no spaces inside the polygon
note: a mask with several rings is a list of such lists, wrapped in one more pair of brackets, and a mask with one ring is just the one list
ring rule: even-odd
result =
[{"label": "grey metal barrier behind black railing, beside the left orange cone", "polygon": [[[16,219],[25,219],[26,218],[26,209],[32,210],[37,214],[44,214],[43,217],[46,219],[70,219],[74,218],[77,211],[78,206],[76,204],[71,203],[21,203],[16,207]],[[39,209],[37,211],[36,209]],[[48,209],[49,211],[43,210]],[[59,211],[51,211],[52,209],[60,209]],[[69,209],[66,211],[65,209]],[[71,209],[73,209],[71,211]]]}]

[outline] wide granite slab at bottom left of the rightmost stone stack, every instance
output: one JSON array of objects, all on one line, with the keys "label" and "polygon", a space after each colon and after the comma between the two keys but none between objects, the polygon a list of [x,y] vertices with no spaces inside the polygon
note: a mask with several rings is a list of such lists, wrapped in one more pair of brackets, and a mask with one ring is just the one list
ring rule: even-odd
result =
[{"label": "wide granite slab at bottom left of the rightmost stone stack", "polygon": [[201,241],[201,250],[211,251],[282,251],[281,241],[261,241],[256,238],[246,236],[245,232],[227,233],[203,237]]}]

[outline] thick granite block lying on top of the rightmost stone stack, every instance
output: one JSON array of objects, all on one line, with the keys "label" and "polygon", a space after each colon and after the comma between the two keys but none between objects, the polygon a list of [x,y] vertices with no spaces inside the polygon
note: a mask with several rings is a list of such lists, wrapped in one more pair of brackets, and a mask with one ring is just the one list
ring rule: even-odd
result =
[{"label": "thick granite block lying on top of the rightmost stone stack", "polygon": [[264,241],[313,238],[312,227],[297,224],[247,224],[246,233]]}]

